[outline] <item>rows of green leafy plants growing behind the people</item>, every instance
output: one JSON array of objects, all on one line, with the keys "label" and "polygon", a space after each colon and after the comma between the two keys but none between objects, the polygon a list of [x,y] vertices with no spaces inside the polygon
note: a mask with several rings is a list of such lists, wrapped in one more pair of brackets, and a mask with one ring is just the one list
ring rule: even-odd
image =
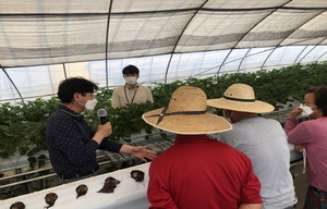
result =
[{"label": "rows of green leafy plants growing behind the people", "polygon": [[[262,70],[253,73],[231,73],[221,76],[206,78],[189,78],[172,83],[153,83],[150,86],[155,102],[132,103],[124,108],[112,108],[112,89],[101,88],[97,93],[99,101],[97,108],[104,108],[108,113],[108,121],[112,124],[113,133],[111,140],[119,142],[121,138],[130,140],[131,134],[141,133],[145,130],[146,139],[153,137],[153,127],[142,120],[142,114],[169,104],[171,94],[180,86],[190,85],[202,88],[208,99],[219,98],[223,91],[234,83],[251,85],[256,93],[256,99],[269,102],[276,110],[283,108],[278,103],[287,103],[294,99],[302,100],[305,91],[313,86],[326,85],[327,62],[311,64],[294,64],[274,70]],[[292,96],[292,97],[290,97]],[[0,103],[0,157],[9,158],[17,150],[28,157],[47,150],[46,120],[57,110],[60,103],[58,97],[48,100],[36,99],[34,101],[11,104]],[[83,112],[85,121],[96,130],[99,120],[93,112]],[[220,109],[214,110],[222,115]],[[162,138],[167,138],[161,134]],[[33,147],[33,149],[31,149]],[[31,150],[29,150],[31,149]],[[46,160],[38,157],[37,160]],[[35,167],[36,162],[31,162]]]}]

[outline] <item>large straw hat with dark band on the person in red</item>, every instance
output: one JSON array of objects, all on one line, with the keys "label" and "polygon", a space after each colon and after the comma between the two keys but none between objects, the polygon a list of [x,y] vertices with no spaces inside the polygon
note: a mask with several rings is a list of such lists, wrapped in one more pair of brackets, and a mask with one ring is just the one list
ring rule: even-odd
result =
[{"label": "large straw hat with dark band on the person in red", "polygon": [[181,86],[172,93],[168,107],[146,112],[142,119],[175,134],[214,134],[231,130],[223,118],[206,111],[206,94],[197,87]]}]

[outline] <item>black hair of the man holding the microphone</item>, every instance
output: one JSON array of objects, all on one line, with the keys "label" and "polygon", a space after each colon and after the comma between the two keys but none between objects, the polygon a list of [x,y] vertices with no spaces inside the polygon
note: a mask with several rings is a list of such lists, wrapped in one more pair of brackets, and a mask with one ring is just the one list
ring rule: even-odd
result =
[{"label": "black hair of the man holding the microphone", "polygon": [[98,85],[83,77],[70,77],[60,82],[58,87],[58,97],[62,103],[69,103],[73,100],[75,93],[85,95],[95,93],[99,89]]}]

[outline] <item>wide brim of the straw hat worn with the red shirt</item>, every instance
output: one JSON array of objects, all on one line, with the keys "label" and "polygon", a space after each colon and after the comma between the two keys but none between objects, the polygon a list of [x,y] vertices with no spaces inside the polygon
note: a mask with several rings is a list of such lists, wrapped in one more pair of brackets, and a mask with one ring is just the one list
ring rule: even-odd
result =
[{"label": "wide brim of the straw hat worn with the red shirt", "polygon": [[232,128],[227,120],[210,113],[165,115],[162,121],[157,124],[159,116],[152,115],[158,115],[162,110],[164,108],[160,108],[146,112],[142,119],[154,127],[175,134],[215,134]]}]

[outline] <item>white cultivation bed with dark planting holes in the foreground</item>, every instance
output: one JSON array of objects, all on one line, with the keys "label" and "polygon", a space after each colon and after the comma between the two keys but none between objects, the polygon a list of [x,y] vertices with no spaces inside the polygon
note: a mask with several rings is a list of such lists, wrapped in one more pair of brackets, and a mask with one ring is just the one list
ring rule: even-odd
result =
[{"label": "white cultivation bed with dark planting holes in the foreground", "polygon": [[[16,201],[24,202],[26,209],[44,209],[48,206],[45,201],[45,197],[49,193],[56,193],[58,195],[58,199],[55,205],[50,207],[51,209],[148,208],[149,204],[146,198],[148,168],[149,162],[86,180],[63,184],[40,192],[17,196],[0,201],[0,209],[9,209],[10,206]],[[145,173],[143,182],[136,182],[131,177],[131,171],[133,170],[140,170]],[[120,181],[120,184],[118,184],[113,193],[98,193],[98,190],[102,188],[105,180],[109,176]],[[76,198],[75,189],[81,184],[87,185],[88,192],[86,195]]]}]

